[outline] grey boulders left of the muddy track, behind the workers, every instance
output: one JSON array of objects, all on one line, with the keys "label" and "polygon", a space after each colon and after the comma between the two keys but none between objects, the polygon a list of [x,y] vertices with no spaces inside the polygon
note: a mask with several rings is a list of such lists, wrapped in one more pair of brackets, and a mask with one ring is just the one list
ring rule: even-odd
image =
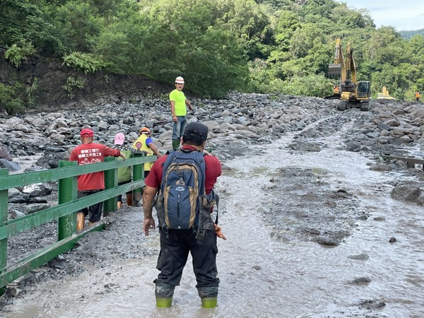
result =
[{"label": "grey boulders left of the muddy track, behind the workers", "polygon": [[[320,98],[234,93],[226,100],[193,100],[189,122],[201,121],[211,133],[208,146],[219,148],[221,159],[240,155],[240,148],[271,142],[287,131],[300,131],[307,124],[335,113],[329,101]],[[143,126],[153,131],[162,151],[172,148],[172,119],[167,100],[139,104],[105,104],[78,110],[25,114],[0,120],[0,142],[15,157],[44,154],[42,166],[57,167],[52,158],[66,158],[66,151],[80,143],[79,131],[88,126],[95,141],[112,146],[114,135],[123,133],[131,142]]]}]

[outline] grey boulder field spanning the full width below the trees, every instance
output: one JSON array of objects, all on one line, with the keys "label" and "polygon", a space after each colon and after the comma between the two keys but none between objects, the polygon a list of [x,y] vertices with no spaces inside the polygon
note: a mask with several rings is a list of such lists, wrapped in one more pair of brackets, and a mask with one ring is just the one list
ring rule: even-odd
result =
[{"label": "grey boulder field spanning the full width below the trees", "polygon": [[[252,151],[256,144],[271,143],[291,131],[302,131],[288,145],[293,151],[319,151],[322,145],[314,139],[334,134],[346,122],[352,122],[351,128],[343,134],[350,151],[399,155],[408,148],[416,151],[424,144],[424,109],[420,103],[377,100],[369,112],[360,112],[357,108],[338,112],[337,102],[231,93],[225,100],[192,100],[194,112],[188,114],[188,119],[204,122],[209,127],[207,148],[224,162]],[[312,123],[317,123],[315,128],[307,130]],[[54,168],[59,160],[67,160],[69,151],[81,142],[79,131],[86,126],[95,131],[96,142],[109,146],[113,146],[115,134],[123,133],[131,143],[137,139],[139,129],[148,126],[160,151],[165,153],[172,148],[169,102],[158,98],[137,104],[107,103],[3,118],[0,119],[0,142],[14,158],[38,158],[27,171]],[[387,165],[380,158],[373,168],[388,170],[399,166],[401,163]],[[14,202],[33,203],[24,193],[12,195]],[[45,204],[34,196],[32,201]]]}]

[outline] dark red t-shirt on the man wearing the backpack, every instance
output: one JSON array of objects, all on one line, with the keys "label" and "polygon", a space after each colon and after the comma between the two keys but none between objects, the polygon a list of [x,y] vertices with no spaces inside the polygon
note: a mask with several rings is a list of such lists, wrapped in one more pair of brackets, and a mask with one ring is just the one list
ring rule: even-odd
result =
[{"label": "dark red t-shirt on the man wearing the backpack", "polygon": [[[188,145],[182,146],[182,149],[184,150],[195,150],[196,148]],[[148,176],[146,177],[146,185],[148,187],[153,187],[158,189],[160,187],[160,182],[162,182],[162,176],[163,176],[163,163],[165,163],[165,160],[167,158],[167,155],[163,155],[158,160],[155,161],[153,164],[153,167],[151,168],[151,171],[149,172]],[[206,181],[205,181],[205,190],[206,194],[209,194],[212,189],[213,185],[216,183],[216,179],[221,175],[223,172],[220,161],[218,158],[216,158],[214,155],[205,155],[205,165],[206,165]]]}]

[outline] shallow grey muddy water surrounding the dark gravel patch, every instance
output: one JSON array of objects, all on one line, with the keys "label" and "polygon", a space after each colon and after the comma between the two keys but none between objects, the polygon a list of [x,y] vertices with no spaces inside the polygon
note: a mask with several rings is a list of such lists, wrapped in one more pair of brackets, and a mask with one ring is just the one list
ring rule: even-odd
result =
[{"label": "shallow grey muddy water surrounding the dark gravel patch", "polygon": [[[225,189],[220,225],[228,240],[218,240],[215,310],[200,307],[190,259],[172,307],[157,309],[152,255],[35,287],[7,317],[424,317],[423,207],[391,199],[394,172],[372,171],[369,158],[340,150],[339,134],[307,153],[285,148],[294,136],[256,148],[260,160],[225,163],[217,187]],[[273,220],[261,208],[274,195],[266,191],[270,179],[291,166],[325,171],[329,187],[348,189],[371,217],[355,220],[337,246],[275,240]],[[157,248],[158,238],[153,232],[143,244]]]}]

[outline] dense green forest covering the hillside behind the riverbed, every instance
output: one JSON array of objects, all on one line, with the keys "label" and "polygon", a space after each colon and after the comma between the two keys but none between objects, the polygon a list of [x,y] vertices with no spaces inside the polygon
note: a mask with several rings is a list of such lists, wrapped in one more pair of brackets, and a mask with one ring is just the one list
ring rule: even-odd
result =
[{"label": "dense green forest covering the hillside behind the riverbed", "polygon": [[[424,39],[375,28],[333,0],[0,0],[0,47],[16,67],[32,54],[83,73],[184,76],[199,95],[228,90],[324,96],[336,38],[352,42],[359,79],[399,99],[424,87]],[[33,89],[35,89],[33,87]],[[0,102],[18,88],[0,83]]]}]

